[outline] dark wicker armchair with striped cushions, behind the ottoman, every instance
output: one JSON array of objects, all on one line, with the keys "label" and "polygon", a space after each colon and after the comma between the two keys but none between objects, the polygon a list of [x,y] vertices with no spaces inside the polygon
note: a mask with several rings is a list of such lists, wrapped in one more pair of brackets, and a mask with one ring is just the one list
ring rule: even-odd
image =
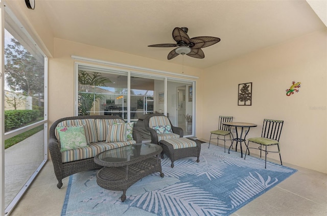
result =
[{"label": "dark wicker armchair with striped cushions, behind the ottoman", "polygon": [[[165,115],[162,115],[162,114],[150,114],[148,115],[145,119],[144,119],[144,124],[145,124],[145,128],[150,132],[150,135],[151,135],[151,143],[154,143],[154,144],[158,144],[159,145],[159,141],[162,139],[160,138],[159,136],[162,135],[160,134],[158,136],[158,133],[155,129],[152,128],[153,125],[153,122],[151,119],[152,117],[156,118],[157,117],[162,117],[162,119],[164,120],[164,124],[168,124],[171,126],[171,129],[173,131],[173,133],[171,134],[164,134],[165,136],[173,136],[171,138],[176,138],[176,137],[183,137],[183,129],[180,128],[180,127],[174,127],[173,124],[171,123],[170,119],[165,116]],[[168,138],[170,139],[170,138]]]}]

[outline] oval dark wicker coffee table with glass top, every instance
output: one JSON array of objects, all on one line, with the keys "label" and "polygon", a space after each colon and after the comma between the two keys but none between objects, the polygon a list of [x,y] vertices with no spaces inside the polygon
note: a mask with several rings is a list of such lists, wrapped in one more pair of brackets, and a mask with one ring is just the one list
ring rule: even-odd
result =
[{"label": "oval dark wicker coffee table with glass top", "polygon": [[139,179],[161,172],[159,157],[161,146],[156,144],[134,144],[104,151],[94,157],[96,164],[103,166],[97,173],[99,186],[112,191],[123,191],[122,202],[127,189]]}]

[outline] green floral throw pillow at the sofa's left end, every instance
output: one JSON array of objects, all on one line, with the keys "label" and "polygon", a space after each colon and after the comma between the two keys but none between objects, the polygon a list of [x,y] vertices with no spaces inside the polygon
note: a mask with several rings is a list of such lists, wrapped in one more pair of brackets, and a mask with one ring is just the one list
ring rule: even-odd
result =
[{"label": "green floral throw pillow at the sofa's left end", "polygon": [[56,127],[56,130],[59,134],[61,152],[87,146],[83,125]]}]

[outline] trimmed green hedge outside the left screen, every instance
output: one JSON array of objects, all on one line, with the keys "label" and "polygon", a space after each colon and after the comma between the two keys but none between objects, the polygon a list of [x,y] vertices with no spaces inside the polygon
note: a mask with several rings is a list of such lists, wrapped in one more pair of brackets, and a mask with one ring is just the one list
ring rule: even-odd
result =
[{"label": "trimmed green hedge outside the left screen", "polygon": [[38,110],[7,110],[5,111],[5,132],[35,121],[39,115]]}]

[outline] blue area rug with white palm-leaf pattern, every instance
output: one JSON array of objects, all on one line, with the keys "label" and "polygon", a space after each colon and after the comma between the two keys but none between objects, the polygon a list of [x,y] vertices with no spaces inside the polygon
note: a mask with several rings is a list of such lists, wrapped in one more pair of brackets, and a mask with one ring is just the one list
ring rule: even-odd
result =
[{"label": "blue area rug with white palm-leaf pattern", "polygon": [[264,194],[296,170],[240,152],[203,143],[196,157],[161,161],[161,178],[153,173],[122,192],[97,185],[98,170],[69,177],[62,216],[68,215],[229,215]]}]

